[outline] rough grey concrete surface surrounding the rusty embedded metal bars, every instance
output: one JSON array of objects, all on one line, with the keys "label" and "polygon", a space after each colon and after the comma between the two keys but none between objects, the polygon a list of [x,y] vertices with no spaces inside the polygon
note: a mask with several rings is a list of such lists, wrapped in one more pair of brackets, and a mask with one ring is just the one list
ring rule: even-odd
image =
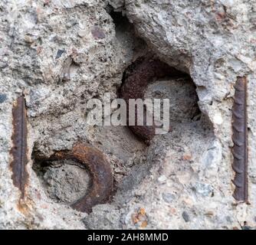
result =
[{"label": "rough grey concrete surface surrounding the rusty embedded metal bars", "polygon": [[[255,20],[255,2],[245,0],[0,2],[0,228],[255,228]],[[106,92],[117,97],[124,70],[148,50],[189,73],[204,116],[173,123],[172,132],[146,147],[126,127],[88,126],[85,101]],[[250,205],[235,202],[231,184],[232,97],[243,76]],[[166,94],[173,98],[174,91]],[[9,168],[11,105],[21,92],[28,109],[25,213],[18,210]],[[75,192],[70,185],[49,190],[32,168],[34,158],[77,141],[102,150],[115,179],[111,203],[95,206],[89,216],[65,203]],[[73,167],[49,168],[45,178],[85,178],[84,169]],[[51,198],[57,191],[61,203]]]}]

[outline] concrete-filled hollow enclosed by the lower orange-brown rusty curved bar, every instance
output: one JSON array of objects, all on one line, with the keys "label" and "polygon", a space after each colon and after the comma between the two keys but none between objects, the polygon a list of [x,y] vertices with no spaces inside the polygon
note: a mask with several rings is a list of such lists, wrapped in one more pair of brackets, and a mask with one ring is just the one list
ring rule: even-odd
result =
[{"label": "concrete-filled hollow enclosed by the lower orange-brown rusty curved bar", "polygon": [[34,155],[33,170],[45,194],[57,203],[71,204],[77,201],[91,185],[90,173],[84,165],[73,160],[48,161]]}]

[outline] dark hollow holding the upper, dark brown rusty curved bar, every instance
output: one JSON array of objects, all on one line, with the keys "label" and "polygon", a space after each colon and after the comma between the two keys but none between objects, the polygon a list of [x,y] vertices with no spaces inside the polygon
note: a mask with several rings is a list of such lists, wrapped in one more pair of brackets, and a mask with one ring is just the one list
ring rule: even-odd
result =
[{"label": "dark hollow holding the upper, dark brown rusty curved bar", "polygon": [[[189,74],[169,67],[153,54],[147,54],[145,57],[139,57],[124,71],[120,95],[126,103],[128,99],[160,100],[161,120],[163,119],[163,100],[168,99],[169,122],[172,125],[198,121],[201,118],[199,98],[195,89]],[[144,107],[145,115],[146,110],[149,109],[146,108],[147,106]],[[149,114],[153,115],[153,112],[149,111]],[[147,141],[152,138],[151,135],[155,134],[156,128],[156,126],[147,127],[146,122],[144,126],[130,127],[137,136]]]}]

